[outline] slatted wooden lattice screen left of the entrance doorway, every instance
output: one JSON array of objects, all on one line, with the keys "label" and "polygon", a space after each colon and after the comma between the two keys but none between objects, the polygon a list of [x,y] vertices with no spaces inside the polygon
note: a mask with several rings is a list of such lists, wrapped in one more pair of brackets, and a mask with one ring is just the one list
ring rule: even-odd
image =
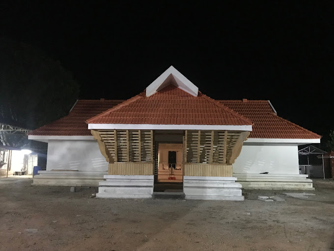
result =
[{"label": "slatted wooden lattice screen left of the entrance doorway", "polygon": [[152,130],[92,130],[92,134],[104,144],[110,162],[153,162]]}]

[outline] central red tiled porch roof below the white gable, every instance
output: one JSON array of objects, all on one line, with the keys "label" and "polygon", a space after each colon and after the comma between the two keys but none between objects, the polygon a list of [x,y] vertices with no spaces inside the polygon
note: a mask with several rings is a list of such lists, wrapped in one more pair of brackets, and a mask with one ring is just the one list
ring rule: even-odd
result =
[{"label": "central red tiled porch roof below the white gable", "polygon": [[145,92],[99,114],[88,124],[251,125],[251,120],[218,101],[193,96],[174,85],[146,97]]}]

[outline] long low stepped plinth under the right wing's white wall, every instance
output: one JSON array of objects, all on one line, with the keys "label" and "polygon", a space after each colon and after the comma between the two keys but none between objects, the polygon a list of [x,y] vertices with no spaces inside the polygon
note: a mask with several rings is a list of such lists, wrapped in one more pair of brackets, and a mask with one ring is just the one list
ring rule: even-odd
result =
[{"label": "long low stepped plinth under the right wing's white wall", "polygon": [[234,173],[244,189],[314,190],[306,174],[240,174]]}]

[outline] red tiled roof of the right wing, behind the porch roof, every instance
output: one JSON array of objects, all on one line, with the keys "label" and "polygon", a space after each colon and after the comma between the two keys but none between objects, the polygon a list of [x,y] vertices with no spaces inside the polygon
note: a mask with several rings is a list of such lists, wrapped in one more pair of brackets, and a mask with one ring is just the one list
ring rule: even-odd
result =
[{"label": "red tiled roof of the right wing, behind the porch roof", "polygon": [[278,117],[267,100],[220,100],[254,123],[250,138],[319,139],[320,135]]}]

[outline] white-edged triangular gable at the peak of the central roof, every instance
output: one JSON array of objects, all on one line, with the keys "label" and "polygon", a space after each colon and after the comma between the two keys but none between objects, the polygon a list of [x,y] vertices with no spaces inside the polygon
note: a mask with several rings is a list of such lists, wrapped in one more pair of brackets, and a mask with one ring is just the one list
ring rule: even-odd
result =
[{"label": "white-edged triangular gable at the peak of the central roof", "polygon": [[192,94],[193,96],[198,95],[198,87],[171,65],[163,74],[161,74],[146,88],[146,96],[148,97],[155,94],[169,84],[173,84],[174,86],[189,94]]}]

